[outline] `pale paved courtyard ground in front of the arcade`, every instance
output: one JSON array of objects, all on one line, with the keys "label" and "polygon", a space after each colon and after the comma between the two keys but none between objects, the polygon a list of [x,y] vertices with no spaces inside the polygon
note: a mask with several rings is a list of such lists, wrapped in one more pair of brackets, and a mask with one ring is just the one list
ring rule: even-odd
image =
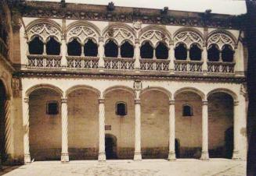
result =
[{"label": "pale paved courtyard ground in front of the arcade", "polygon": [[106,162],[70,161],[61,164],[59,161],[34,162],[10,171],[6,176],[136,176],[136,175],[177,175],[177,176],[243,176],[246,162],[238,160],[211,159],[201,161],[181,159],[167,160],[107,160]]}]

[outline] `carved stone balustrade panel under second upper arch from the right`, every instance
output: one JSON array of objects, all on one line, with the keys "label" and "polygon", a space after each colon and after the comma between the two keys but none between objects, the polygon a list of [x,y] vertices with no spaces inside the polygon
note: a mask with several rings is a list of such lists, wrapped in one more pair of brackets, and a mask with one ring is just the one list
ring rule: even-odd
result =
[{"label": "carved stone balustrade panel under second upper arch from the right", "polygon": [[175,60],[175,72],[203,72],[203,63],[201,61],[178,61]]}]

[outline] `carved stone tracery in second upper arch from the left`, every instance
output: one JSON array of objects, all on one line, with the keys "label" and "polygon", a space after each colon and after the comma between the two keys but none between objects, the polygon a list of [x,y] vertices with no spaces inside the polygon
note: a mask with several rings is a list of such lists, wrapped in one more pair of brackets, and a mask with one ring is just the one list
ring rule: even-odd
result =
[{"label": "carved stone tracery in second upper arch from the left", "polygon": [[88,38],[92,38],[98,43],[99,35],[91,27],[81,25],[74,26],[67,32],[67,41],[70,42],[73,38],[78,38],[82,44],[85,44]]}]

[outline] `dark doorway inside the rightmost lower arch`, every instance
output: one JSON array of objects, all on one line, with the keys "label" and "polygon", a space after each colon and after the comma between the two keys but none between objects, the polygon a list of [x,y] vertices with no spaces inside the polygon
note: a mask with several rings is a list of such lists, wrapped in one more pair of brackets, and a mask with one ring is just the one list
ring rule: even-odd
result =
[{"label": "dark doorway inside the rightmost lower arch", "polygon": [[234,133],[233,127],[228,128],[225,130],[225,158],[231,159],[233,156],[233,145],[234,145]]}]

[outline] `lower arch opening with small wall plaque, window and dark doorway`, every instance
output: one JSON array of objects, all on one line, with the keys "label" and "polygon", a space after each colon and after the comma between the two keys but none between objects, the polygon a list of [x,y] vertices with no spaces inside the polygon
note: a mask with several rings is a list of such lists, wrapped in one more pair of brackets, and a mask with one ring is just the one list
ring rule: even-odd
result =
[{"label": "lower arch opening with small wall plaque, window and dark doorway", "polygon": [[[135,150],[134,94],[128,89],[117,88],[106,91],[104,97],[106,159],[133,159]],[[118,114],[117,104],[120,102],[126,106],[124,114]],[[111,143],[113,143],[112,146]]]}]

